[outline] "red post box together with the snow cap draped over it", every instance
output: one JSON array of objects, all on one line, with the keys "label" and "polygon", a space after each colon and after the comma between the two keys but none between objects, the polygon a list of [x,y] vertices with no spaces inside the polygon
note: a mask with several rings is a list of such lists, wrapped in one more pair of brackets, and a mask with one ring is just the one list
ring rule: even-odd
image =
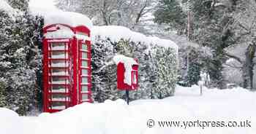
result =
[{"label": "red post box together with the snow cap draped over it", "polygon": [[[138,62],[134,58],[129,58],[124,55],[116,55],[113,57],[114,63],[117,66],[117,87],[120,90],[134,90],[132,86],[132,71],[135,71],[133,66],[138,66]],[[138,71],[138,68],[136,68]],[[138,75],[136,75],[138,77]],[[137,78],[136,78],[137,79]]]}]

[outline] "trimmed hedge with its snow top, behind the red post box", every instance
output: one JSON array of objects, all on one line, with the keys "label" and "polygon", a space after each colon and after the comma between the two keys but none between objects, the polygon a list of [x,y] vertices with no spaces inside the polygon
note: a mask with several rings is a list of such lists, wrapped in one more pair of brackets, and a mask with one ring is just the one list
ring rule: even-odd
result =
[{"label": "trimmed hedge with its snow top, behind the red post box", "polygon": [[108,64],[117,54],[138,59],[140,87],[130,98],[173,95],[178,63],[175,43],[121,26],[100,26],[91,31],[94,101],[124,98],[124,92],[116,89],[116,65]]}]

